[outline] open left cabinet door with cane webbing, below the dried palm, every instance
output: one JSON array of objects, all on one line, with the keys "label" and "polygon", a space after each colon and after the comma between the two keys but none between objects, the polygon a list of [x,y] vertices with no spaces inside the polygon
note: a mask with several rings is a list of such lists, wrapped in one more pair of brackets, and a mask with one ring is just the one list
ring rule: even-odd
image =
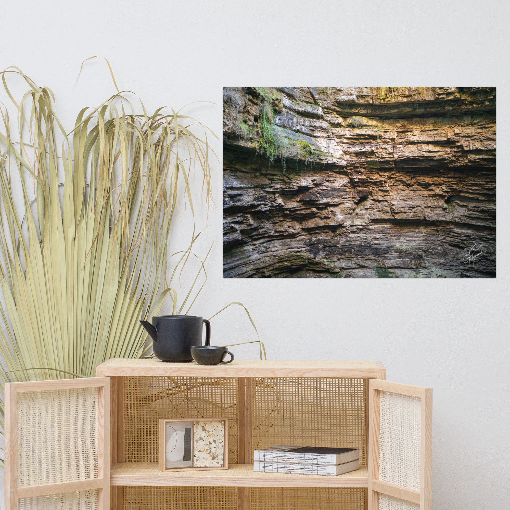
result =
[{"label": "open left cabinet door with cane webbing, below the dried palm", "polygon": [[5,385],[6,510],[108,510],[110,378]]}]

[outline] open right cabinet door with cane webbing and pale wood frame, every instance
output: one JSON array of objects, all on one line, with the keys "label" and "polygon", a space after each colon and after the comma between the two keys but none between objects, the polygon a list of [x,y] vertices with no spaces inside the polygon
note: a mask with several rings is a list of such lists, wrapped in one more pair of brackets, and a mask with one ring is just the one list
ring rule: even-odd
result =
[{"label": "open right cabinet door with cane webbing and pale wood frame", "polygon": [[432,389],[370,379],[368,509],[431,510]]}]

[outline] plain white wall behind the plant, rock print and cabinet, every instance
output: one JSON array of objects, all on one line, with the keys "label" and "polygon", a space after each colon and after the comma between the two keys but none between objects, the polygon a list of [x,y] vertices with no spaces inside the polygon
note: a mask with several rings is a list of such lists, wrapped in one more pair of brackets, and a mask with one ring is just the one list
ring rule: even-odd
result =
[{"label": "plain white wall behind the plant, rock print and cabinet", "polygon": [[[381,360],[389,380],[434,389],[436,510],[510,506],[510,129],[507,12],[501,2],[4,2],[0,68],[54,90],[71,126],[84,105],[122,89],[149,109],[179,108],[221,138],[221,88],[243,85],[496,86],[497,278],[222,279],[221,164],[210,279],[194,308],[242,301],[272,359]],[[20,89],[21,90],[21,89]],[[214,142],[221,160],[221,143]],[[205,247],[207,243],[203,243]],[[241,310],[213,319],[215,343],[253,339]],[[254,346],[237,348],[254,358]]]}]

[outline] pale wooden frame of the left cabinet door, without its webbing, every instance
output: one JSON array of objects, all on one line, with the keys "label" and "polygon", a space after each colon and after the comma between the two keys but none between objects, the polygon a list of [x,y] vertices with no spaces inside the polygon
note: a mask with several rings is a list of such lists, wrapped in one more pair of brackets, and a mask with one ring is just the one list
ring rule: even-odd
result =
[{"label": "pale wooden frame of the left cabinet door, without its webbing", "polygon": [[[18,425],[20,423],[18,404],[25,395],[43,407],[40,402],[44,392],[97,388],[97,471],[96,476],[86,479],[66,480],[53,483],[39,483],[20,486],[18,483]],[[39,394],[39,395],[38,395]],[[54,395],[54,393],[53,393]],[[58,402],[58,397],[55,398]],[[75,399],[76,400],[76,399]],[[86,400],[86,399],[85,399]],[[37,403],[38,402],[38,403]],[[79,403],[79,402],[78,402]],[[85,403],[85,402],[84,402]],[[62,413],[65,412],[61,409]],[[78,412],[77,412],[78,413]],[[69,416],[59,419],[77,420],[74,410]],[[35,420],[37,422],[37,418]],[[44,427],[44,416],[40,418]],[[95,425],[94,425],[95,426]],[[94,468],[95,470],[95,468]],[[18,500],[23,498],[49,496],[60,493],[97,490],[97,509],[110,507],[110,377],[87,377],[47,381],[7,382],[5,385],[5,502],[6,510],[16,510]]]}]

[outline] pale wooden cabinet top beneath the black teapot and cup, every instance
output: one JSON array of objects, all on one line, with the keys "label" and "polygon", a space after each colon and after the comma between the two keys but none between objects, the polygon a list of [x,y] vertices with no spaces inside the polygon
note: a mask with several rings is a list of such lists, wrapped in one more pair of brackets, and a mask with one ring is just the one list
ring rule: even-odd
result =
[{"label": "pale wooden cabinet top beneath the black teapot and cup", "polygon": [[205,366],[165,363],[157,359],[112,359],[97,367],[103,376],[164,377],[371,377],[386,378],[380,361],[253,361],[235,360],[227,365]]}]

